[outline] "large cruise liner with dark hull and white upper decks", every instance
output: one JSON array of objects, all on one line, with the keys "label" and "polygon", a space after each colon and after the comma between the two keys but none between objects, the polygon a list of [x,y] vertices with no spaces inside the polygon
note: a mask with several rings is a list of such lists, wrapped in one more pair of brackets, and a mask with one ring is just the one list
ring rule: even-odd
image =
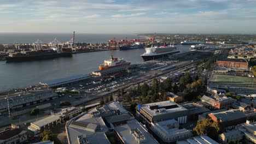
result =
[{"label": "large cruise liner with dark hull and white upper decks", "polygon": [[167,45],[167,44],[164,44],[162,46],[152,45],[151,47],[147,47],[145,50],[146,52],[141,55],[144,62],[158,59],[158,58],[163,58],[172,53],[179,52],[179,50],[176,50],[176,47],[174,47],[173,45]]}]

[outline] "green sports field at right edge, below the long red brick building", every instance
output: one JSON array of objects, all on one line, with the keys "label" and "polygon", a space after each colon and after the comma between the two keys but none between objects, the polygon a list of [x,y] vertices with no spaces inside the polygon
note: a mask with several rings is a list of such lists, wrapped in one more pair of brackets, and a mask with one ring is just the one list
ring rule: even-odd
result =
[{"label": "green sports field at right edge, below the long red brick building", "polygon": [[253,77],[213,74],[210,82],[219,85],[219,87],[256,88],[256,79]]}]

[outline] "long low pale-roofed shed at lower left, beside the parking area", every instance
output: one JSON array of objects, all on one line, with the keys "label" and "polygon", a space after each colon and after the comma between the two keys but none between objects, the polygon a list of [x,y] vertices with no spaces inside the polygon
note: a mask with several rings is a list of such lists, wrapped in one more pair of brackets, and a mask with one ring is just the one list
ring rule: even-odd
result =
[{"label": "long low pale-roofed shed at lower left, beside the parking area", "polygon": [[30,123],[28,130],[33,131],[34,134],[38,134],[45,129],[55,127],[59,123],[61,123],[61,118],[55,115],[51,115]]}]

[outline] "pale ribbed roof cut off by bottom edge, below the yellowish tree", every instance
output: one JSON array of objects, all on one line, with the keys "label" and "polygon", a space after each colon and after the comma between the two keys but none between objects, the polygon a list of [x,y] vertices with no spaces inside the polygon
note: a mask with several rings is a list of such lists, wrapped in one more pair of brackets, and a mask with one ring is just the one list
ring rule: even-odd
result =
[{"label": "pale ribbed roof cut off by bottom edge, below the yellowish tree", "polygon": [[177,141],[177,144],[219,144],[218,142],[214,141],[213,139],[211,139],[210,137],[208,137],[207,135],[200,135],[200,136],[195,136],[192,137],[190,139],[187,140],[183,140],[183,141]]}]

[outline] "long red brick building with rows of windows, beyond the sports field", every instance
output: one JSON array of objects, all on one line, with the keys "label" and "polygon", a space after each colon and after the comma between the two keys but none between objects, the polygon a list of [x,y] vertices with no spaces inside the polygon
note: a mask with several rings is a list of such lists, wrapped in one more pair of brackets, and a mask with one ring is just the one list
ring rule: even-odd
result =
[{"label": "long red brick building with rows of windows, beyond the sports field", "polygon": [[217,60],[218,67],[247,69],[248,62],[243,58],[226,58]]}]

